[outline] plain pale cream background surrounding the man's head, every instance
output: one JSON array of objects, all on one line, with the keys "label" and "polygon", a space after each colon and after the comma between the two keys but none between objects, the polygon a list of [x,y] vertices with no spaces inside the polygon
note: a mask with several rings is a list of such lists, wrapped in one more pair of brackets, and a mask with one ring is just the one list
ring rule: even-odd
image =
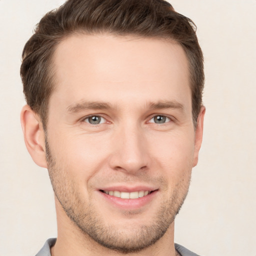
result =
[{"label": "plain pale cream background surrounding the man's head", "polygon": [[[199,164],[175,222],[175,241],[198,254],[256,255],[256,0],[170,0],[197,25],[206,106]],[[0,0],[0,256],[34,255],[56,236],[47,170],[26,151],[21,51],[63,0]]]}]

